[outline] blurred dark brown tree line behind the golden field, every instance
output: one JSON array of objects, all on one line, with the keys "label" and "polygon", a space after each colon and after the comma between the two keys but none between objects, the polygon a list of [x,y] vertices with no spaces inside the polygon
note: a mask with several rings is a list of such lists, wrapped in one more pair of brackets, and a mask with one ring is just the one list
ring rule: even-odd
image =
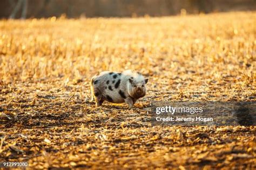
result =
[{"label": "blurred dark brown tree line behind the golden field", "polygon": [[132,17],[255,10],[256,0],[2,0],[0,18]]}]

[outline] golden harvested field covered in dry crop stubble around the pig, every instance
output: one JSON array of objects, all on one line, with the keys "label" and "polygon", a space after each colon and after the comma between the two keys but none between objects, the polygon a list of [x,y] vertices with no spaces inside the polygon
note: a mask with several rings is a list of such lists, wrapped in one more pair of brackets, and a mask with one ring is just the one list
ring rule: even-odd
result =
[{"label": "golden harvested field covered in dry crop stubble around the pig", "polygon": [[[152,101],[255,101],[255,12],[0,21],[0,162],[30,168],[255,168],[256,126],[154,126]],[[90,78],[136,69],[135,107]]]}]

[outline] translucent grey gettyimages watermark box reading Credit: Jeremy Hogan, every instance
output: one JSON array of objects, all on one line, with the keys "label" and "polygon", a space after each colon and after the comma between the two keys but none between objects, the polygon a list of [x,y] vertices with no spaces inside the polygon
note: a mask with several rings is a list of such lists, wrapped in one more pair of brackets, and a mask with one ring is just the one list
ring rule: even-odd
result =
[{"label": "translucent grey gettyimages watermark box reading Credit: Jeremy Hogan", "polygon": [[256,102],[151,102],[153,125],[256,125]]}]

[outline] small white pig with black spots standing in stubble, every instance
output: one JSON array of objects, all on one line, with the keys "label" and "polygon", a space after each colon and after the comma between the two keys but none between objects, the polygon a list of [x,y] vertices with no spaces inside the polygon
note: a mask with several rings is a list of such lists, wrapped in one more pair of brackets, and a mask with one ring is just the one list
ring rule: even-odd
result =
[{"label": "small white pig with black spots standing in stubble", "polygon": [[104,101],[112,103],[127,103],[129,109],[136,101],[146,95],[146,84],[149,78],[145,78],[134,70],[120,72],[101,72],[91,79],[91,102],[96,107]]}]

